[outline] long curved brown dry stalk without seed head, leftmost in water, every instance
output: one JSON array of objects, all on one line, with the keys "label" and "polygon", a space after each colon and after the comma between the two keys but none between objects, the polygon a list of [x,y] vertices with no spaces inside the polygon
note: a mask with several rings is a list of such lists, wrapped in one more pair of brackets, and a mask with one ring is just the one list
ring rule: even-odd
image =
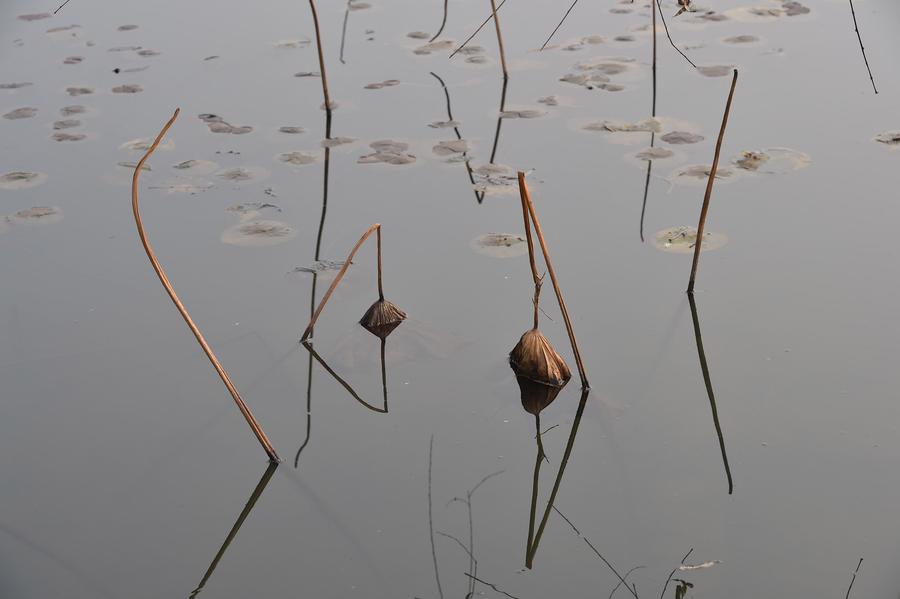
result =
[{"label": "long curved brown dry stalk without seed head, leftmost in water", "polygon": [[165,271],[163,271],[162,266],[156,259],[156,255],[153,253],[153,248],[150,246],[150,241],[147,239],[146,233],[144,233],[144,225],[141,223],[141,213],[138,209],[138,177],[140,176],[141,169],[144,167],[144,163],[147,161],[150,155],[153,154],[153,151],[156,150],[156,147],[162,141],[166,132],[169,130],[169,127],[171,127],[172,123],[175,122],[175,119],[178,118],[179,112],[181,112],[180,109],[176,108],[175,114],[173,114],[172,118],[169,119],[169,122],[165,124],[165,126],[159,132],[159,135],[156,136],[153,144],[147,149],[147,152],[140,159],[140,161],[138,161],[137,166],[134,167],[134,175],[131,179],[131,208],[134,212],[134,222],[137,225],[138,235],[141,238],[141,244],[144,246],[144,251],[147,252],[147,258],[150,259],[150,264],[153,266],[153,270],[156,271],[156,275],[159,277],[159,281],[165,288],[166,293],[168,293],[169,297],[172,299],[172,303],[175,304],[178,312],[181,313],[181,317],[184,318],[184,322],[187,323],[188,328],[190,328],[191,332],[194,333],[194,337],[197,338],[197,343],[199,343],[200,347],[203,348],[203,351],[206,353],[206,357],[209,358],[209,361],[212,363],[213,368],[215,368],[216,372],[219,373],[219,377],[222,379],[222,382],[225,383],[225,387],[228,389],[228,392],[234,399],[234,403],[237,404],[237,407],[241,411],[241,414],[244,415],[244,419],[247,421],[247,424],[250,425],[250,429],[253,431],[253,434],[256,435],[256,438],[259,440],[260,445],[262,445],[263,449],[266,450],[266,454],[268,454],[269,456],[269,461],[279,462],[281,460],[278,457],[278,453],[275,452],[275,448],[272,447],[272,443],[269,442],[269,438],[263,432],[262,427],[260,427],[259,423],[256,421],[253,413],[250,412],[250,408],[248,408],[247,404],[244,403],[244,400],[241,398],[241,394],[238,393],[238,390],[234,386],[234,383],[231,382],[231,378],[228,376],[228,373],[225,372],[225,368],[222,367],[222,364],[219,362],[219,359],[216,358],[216,355],[213,353],[213,350],[209,346],[209,343],[207,343],[206,339],[203,337],[203,333],[200,332],[200,329],[194,323],[190,314],[188,314],[187,308],[184,307],[184,304],[175,293],[175,289],[172,287],[172,283],[169,282],[169,278],[166,276]]}]

